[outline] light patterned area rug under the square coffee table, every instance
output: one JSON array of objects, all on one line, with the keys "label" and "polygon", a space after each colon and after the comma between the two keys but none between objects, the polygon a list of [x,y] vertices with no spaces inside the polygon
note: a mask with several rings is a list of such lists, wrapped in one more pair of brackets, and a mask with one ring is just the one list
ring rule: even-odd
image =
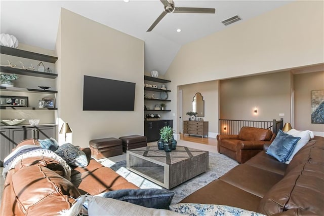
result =
[{"label": "light patterned area rug under the square coffee table", "polygon": [[[215,179],[219,178],[225,174],[228,170],[237,166],[238,163],[225,155],[219,153],[209,153],[209,169],[197,175],[196,177],[191,178],[185,183],[172,188],[171,191],[175,192],[175,195],[172,200],[172,204],[180,202],[182,199],[187,197],[189,194],[206,186]],[[150,182],[149,180],[139,176],[138,174],[129,171],[126,168],[126,161],[120,161],[114,164],[109,165],[111,169],[117,172],[119,175],[127,179],[127,181],[135,184],[136,186],[145,189],[145,188],[159,188],[162,187],[156,185],[155,183]]]}]

